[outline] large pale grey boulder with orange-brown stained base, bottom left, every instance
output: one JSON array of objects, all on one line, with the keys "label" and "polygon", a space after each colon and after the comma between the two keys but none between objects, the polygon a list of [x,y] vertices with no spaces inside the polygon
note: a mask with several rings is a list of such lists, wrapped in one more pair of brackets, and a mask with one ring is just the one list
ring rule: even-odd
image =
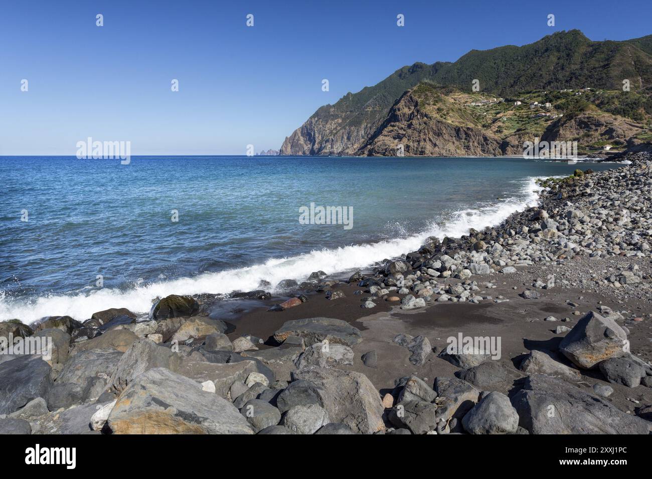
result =
[{"label": "large pale grey boulder with orange-brown stained base, bottom left", "polygon": [[116,434],[252,434],[229,401],[165,368],[145,371],[123,391],[109,415]]}]

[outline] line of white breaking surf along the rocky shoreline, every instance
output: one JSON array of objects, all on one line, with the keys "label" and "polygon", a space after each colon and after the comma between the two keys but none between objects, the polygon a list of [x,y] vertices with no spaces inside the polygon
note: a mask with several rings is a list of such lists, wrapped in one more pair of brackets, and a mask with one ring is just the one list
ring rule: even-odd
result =
[{"label": "line of white breaking surf along the rocky shoreline", "polygon": [[[310,270],[306,269],[306,267],[309,268],[310,266],[308,264],[303,265],[304,269],[306,269],[303,276],[291,276],[293,271],[291,271],[292,267],[290,263],[293,261],[309,263],[311,258],[314,261],[324,263],[325,255],[331,255],[331,259],[338,263],[352,263],[354,259],[371,260],[370,263],[366,263],[366,266],[350,264],[342,270],[329,270],[331,276],[341,276],[346,272],[353,272],[355,269],[361,267],[372,268],[374,267],[374,263],[378,264],[378,262],[384,257],[391,257],[395,255],[397,251],[400,252],[402,249],[408,248],[410,243],[413,244],[413,248],[417,248],[422,240],[430,234],[436,234],[443,238],[447,234],[451,235],[452,233],[453,235],[456,235],[462,233],[463,231],[466,231],[469,226],[476,224],[499,224],[499,222],[505,220],[511,212],[527,207],[528,205],[531,205],[531,203],[537,201],[537,190],[539,190],[539,187],[536,186],[535,181],[536,179],[542,178],[544,178],[544,175],[521,179],[516,185],[516,190],[513,192],[512,196],[497,197],[496,201],[492,201],[488,205],[477,204],[467,209],[464,209],[463,207],[462,209],[456,210],[453,216],[446,222],[441,224],[432,222],[428,228],[406,237],[391,237],[389,239],[379,239],[375,242],[365,242],[365,240],[360,240],[360,242],[357,243],[346,244],[344,246],[333,246],[332,248],[324,250],[313,249],[309,252],[304,252],[298,255],[293,255],[288,252],[284,257],[268,258],[265,261],[247,267],[226,269],[217,272],[202,272],[194,276],[181,276],[179,278],[171,278],[163,281],[152,280],[151,282],[130,287],[128,289],[109,287],[97,290],[93,289],[91,293],[76,291],[74,293],[42,295],[37,298],[18,298],[17,300],[6,299],[2,304],[5,309],[3,320],[20,319],[25,323],[33,323],[42,319],[42,317],[52,315],[53,310],[57,310],[57,313],[59,314],[70,314],[74,319],[84,321],[95,312],[98,306],[106,305],[108,307],[113,306],[114,304],[120,304],[120,307],[130,308],[139,316],[142,316],[149,312],[152,302],[155,302],[157,298],[165,297],[171,293],[183,295],[213,294],[215,297],[228,298],[238,291],[247,291],[247,289],[244,289],[239,285],[239,283],[245,282],[245,280],[248,279],[248,276],[251,276],[252,274],[255,276],[256,272],[258,272],[258,280],[260,280],[260,282],[265,282],[265,280],[271,280],[273,283],[281,280],[289,280],[290,282],[296,280],[302,282],[309,276]],[[369,248],[376,250],[373,258],[371,257],[372,255],[369,254]],[[360,255],[362,255],[363,258],[359,258]],[[274,270],[279,265],[284,266],[284,263],[288,263],[288,265],[284,267],[285,270],[288,270],[286,273],[288,276],[282,276],[282,272]],[[276,277],[276,279],[272,279],[274,277]],[[256,283],[258,283],[258,280],[256,280]],[[224,289],[223,291],[217,290],[218,292],[215,292],[216,289],[211,288],[211,283],[216,281],[220,283],[233,284],[229,284],[230,290]],[[255,288],[256,283],[250,284],[249,287]],[[267,286],[258,285],[258,287],[264,287],[266,291],[270,291],[271,293],[283,292],[277,291],[273,286],[274,284]],[[146,301],[147,304],[144,304],[144,301]],[[137,302],[140,302],[140,308],[134,307],[134,304]],[[61,308],[59,308],[59,306],[61,306]],[[79,312],[80,310],[84,310],[87,313],[83,315],[73,314],[74,311]],[[28,315],[29,319],[26,319],[21,313]]]}]

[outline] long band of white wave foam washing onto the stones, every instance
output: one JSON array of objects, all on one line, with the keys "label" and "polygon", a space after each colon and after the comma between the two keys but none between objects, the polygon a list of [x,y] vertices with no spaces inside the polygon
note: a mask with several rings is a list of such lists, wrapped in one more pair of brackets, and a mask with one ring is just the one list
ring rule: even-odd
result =
[{"label": "long band of white wave foam washing onto the stones", "polygon": [[425,231],[404,238],[273,258],[242,269],[205,272],[192,278],[138,285],[129,291],[103,288],[74,295],[47,295],[33,298],[29,302],[24,299],[12,300],[0,293],[0,321],[17,318],[24,323],[32,323],[48,315],[68,315],[82,321],[107,308],[128,308],[135,313],[146,313],[156,297],[251,291],[258,287],[261,280],[267,280],[273,285],[288,278],[301,282],[317,270],[334,274],[368,267],[384,258],[417,250],[430,236],[439,239],[445,236],[460,237],[467,234],[470,228],[482,229],[500,224],[512,212],[537,204],[541,188],[535,183],[536,180],[535,177],[527,179],[518,197],[479,205],[475,209],[460,210],[452,214],[445,224],[433,222]]}]

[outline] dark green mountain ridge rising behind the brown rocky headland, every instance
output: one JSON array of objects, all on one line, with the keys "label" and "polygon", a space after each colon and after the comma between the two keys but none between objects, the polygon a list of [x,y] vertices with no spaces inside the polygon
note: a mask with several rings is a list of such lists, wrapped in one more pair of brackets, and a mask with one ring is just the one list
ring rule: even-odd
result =
[{"label": "dark green mountain ridge rising behind the brown rocky headland", "polygon": [[[392,154],[389,143],[385,145],[387,148],[378,149],[370,147],[370,142],[383,136],[381,130],[387,128],[389,116],[396,114],[398,107],[403,113],[406,113],[405,109],[409,104],[418,108],[419,100],[416,96],[412,98],[414,102],[404,101],[397,106],[398,102],[404,99],[406,91],[415,89],[419,84],[429,83],[437,87],[454,87],[454,90],[460,93],[471,93],[474,80],[479,81],[480,87],[479,93],[476,94],[493,94],[507,98],[517,98],[528,92],[559,92],[589,87],[594,91],[599,89],[622,92],[623,80],[629,80],[630,92],[627,93],[632,93],[630,96],[626,93],[620,96],[602,95],[600,98],[593,98],[591,104],[600,102],[597,109],[601,114],[622,116],[631,113],[637,116],[630,118],[644,122],[647,113],[652,113],[652,104],[649,104],[649,95],[652,93],[652,35],[621,42],[593,42],[582,32],[572,30],[545,36],[538,42],[525,46],[472,50],[454,63],[415,63],[404,66],[373,87],[364,87],[358,93],[348,93],[336,104],[319,108],[285,139],[280,154]],[[567,98],[567,112],[576,113],[578,109],[586,109],[589,102],[584,100],[585,97],[581,101],[579,98]],[[422,106],[423,101],[421,99]],[[559,107],[559,113],[563,114],[566,110],[561,104]],[[423,110],[420,112],[423,113]],[[414,116],[415,112],[411,114]],[[432,118],[432,115],[429,118]],[[440,127],[446,128],[441,131],[435,128],[430,132],[431,136],[434,136],[433,141],[437,139],[437,132],[456,134],[448,128],[450,125],[445,124],[445,119],[439,117],[437,122],[440,122]],[[425,119],[421,127],[427,124],[428,119]],[[393,125],[397,126],[396,122]],[[481,143],[491,147],[478,150],[460,143],[449,144],[445,149],[411,148],[411,154],[444,154],[444,151],[455,151],[458,154],[500,154],[502,151],[502,154],[514,154],[514,145],[503,145],[505,140],[507,143],[510,141],[504,135],[485,131],[482,124],[466,126],[479,128],[479,133],[488,138]],[[400,130],[404,128],[393,132],[396,138],[392,141],[396,144],[404,140],[400,138]],[[385,140],[389,141],[388,138]],[[496,150],[496,142],[503,145],[502,149],[499,147]],[[409,151],[409,143],[403,143]],[[422,152],[417,153],[419,151]]]}]

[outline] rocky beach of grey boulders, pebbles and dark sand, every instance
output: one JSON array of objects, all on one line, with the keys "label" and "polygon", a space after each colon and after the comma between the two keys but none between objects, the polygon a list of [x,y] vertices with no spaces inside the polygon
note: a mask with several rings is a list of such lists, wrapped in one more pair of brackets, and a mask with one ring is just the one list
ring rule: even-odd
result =
[{"label": "rocky beach of grey boulders, pebbles and dark sand", "polygon": [[649,434],[652,156],[619,159],[367,270],[0,323],[0,433]]}]

